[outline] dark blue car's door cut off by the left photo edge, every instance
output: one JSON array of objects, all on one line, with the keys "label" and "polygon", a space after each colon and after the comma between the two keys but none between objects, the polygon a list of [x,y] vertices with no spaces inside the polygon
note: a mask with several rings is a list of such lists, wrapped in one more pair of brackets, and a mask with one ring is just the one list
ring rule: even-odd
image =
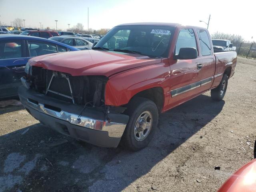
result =
[{"label": "dark blue car's door cut off by the left photo edge", "polygon": [[17,95],[27,62],[24,40],[0,42],[0,98]]}]

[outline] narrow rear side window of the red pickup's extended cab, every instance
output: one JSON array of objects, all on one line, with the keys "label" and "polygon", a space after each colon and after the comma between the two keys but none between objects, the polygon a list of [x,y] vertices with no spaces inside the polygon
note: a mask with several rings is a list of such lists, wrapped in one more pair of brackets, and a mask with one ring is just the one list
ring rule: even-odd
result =
[{"label": "narrow rear side window of the red pickup's extended cab", "polygon": [[207,32],[205,30],[198,29],[197,34],[200,42],[202,56],[210,55],[211,44]]}]

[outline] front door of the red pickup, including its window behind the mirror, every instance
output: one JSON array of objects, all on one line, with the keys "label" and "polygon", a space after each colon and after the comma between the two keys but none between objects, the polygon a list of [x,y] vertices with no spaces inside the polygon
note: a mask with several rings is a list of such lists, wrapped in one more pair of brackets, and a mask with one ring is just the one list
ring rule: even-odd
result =
[{"label": "front door of the red pickup, including its window behind the mirror", "polygon": [[[183,28],[180,30],[174,55],[179,54],[180,48],[186,47],[199,50],[196,43],[195,31],[192,28]],[[176,63],[170,65],[170,107],[176,106],[200,92],[201,65],[202,59],[200,57],[196,59],[177,60]]]}]

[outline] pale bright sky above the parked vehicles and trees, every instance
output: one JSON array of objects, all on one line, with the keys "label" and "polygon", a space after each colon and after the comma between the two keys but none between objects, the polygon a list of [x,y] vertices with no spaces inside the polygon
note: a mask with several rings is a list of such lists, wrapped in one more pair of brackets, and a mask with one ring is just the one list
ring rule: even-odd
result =
[{"label": "pale bright sky above the parked vehicles and trees", "polygon": [[[112,28],[132,22],[170,22],[207,27],[210,33],[239,34],[256,41],[255,0],[0,0],[0,21],[25,19],[26,27],[66,30],[78,22],[89,28]],[[252,36],[254,37],[252,39]]]}]

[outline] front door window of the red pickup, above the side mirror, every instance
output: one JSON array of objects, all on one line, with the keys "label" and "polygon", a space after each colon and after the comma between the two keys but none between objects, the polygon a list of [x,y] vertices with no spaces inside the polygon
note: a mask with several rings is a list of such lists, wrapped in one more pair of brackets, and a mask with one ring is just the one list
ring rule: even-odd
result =
[{"label": "front door window of the red pickup, above the side mirror", "polygon": [[197,49],[195,34],[191,28],[184,28],[180,30],[178,39],[176,42],[175,55],[179,54],[180,48],[185,48],[185,47],[192,47]]}]

